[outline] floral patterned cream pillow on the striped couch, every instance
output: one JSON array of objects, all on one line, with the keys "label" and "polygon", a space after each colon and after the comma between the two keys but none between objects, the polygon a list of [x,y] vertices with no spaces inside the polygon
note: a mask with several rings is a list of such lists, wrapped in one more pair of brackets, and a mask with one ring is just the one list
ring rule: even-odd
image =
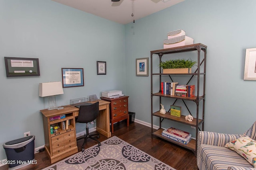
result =
[{"label": "floral patterned cream pillow on the striped couch", "polygon": [[226,143],[225,147],[236,151],[256,168],[256,141],[248,136],[243,136]]}]

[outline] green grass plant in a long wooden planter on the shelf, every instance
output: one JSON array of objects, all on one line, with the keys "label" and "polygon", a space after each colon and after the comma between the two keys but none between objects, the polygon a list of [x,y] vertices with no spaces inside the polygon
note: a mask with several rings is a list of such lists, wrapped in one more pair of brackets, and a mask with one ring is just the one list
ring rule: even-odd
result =
[{"label": "green grass plant in a long wooden planter on the shelf", "polygon": [[167,61],[161,61],[158,64],[159,68],[163,69],[165,74],[180,74],[191,73],[191,67],[195,66],[196,61],[191,59],[173,59]]}]

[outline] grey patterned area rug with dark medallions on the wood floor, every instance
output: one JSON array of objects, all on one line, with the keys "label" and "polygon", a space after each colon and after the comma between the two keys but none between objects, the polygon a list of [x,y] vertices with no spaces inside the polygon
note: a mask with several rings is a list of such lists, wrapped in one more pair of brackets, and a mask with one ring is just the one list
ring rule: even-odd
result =
[{"label": "grey patterned area rug with dark medallions on the wood floor", "polygon": [[175,170],[114,136],[43,170]]}]

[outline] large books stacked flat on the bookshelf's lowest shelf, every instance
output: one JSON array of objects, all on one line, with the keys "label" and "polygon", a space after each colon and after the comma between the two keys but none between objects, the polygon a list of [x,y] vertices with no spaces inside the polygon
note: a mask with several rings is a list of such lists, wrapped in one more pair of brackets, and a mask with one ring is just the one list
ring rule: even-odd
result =
[{"label": "large books stacked flat on the bookshelf's lowest shelf", "polygon": [[176,129],[174,127],[165,129],[164,131],[162,131],[162,135],[164,137],[167,137],[179,143],[183,143],[185,145],[191,141],[190,133]]}]

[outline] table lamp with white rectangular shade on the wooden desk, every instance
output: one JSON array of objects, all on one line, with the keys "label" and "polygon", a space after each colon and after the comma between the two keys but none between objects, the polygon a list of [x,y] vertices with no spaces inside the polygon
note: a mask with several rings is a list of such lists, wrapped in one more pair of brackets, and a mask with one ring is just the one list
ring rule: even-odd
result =
[{"label": "table lamp with white rectangular shade on the wooden desk", "polygon": [[47,82],[39,83],[39,96],[47,97],[49,107],[48,110],[63,109],[63,107],[57,107],[55,95],[64,94],[61,82]]}]

